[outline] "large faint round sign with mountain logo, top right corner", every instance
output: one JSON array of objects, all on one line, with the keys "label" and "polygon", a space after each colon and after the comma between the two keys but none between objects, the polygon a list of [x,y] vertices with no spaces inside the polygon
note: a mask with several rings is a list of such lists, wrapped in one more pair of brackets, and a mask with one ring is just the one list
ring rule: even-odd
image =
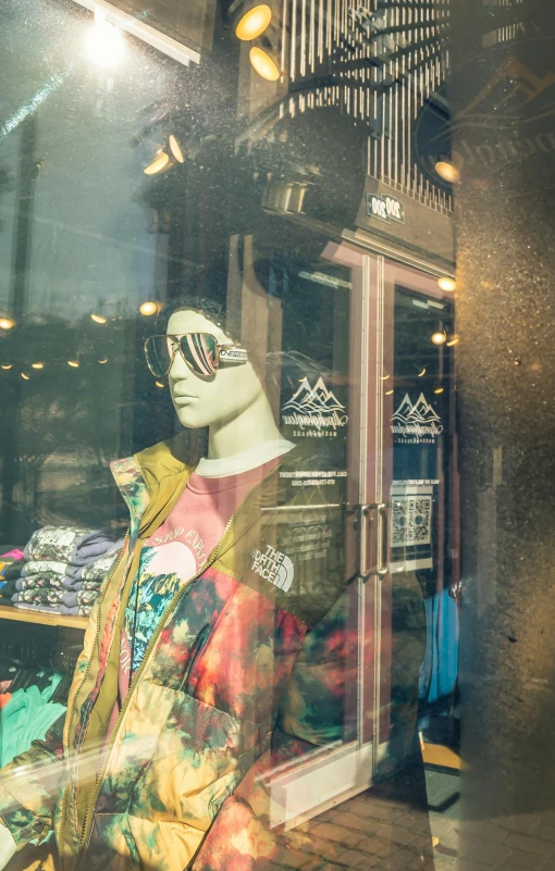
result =
[{"label": "large faint round sign with mountain logo, top right corner", "polygon": [[502,45],[452,71],[415,124],[415,155],[432,184],[451,189],[436,170],[447,161],[480,197],[521,196],[522,177],[529,194],[554,186],[553,51],[543,37]]}]

